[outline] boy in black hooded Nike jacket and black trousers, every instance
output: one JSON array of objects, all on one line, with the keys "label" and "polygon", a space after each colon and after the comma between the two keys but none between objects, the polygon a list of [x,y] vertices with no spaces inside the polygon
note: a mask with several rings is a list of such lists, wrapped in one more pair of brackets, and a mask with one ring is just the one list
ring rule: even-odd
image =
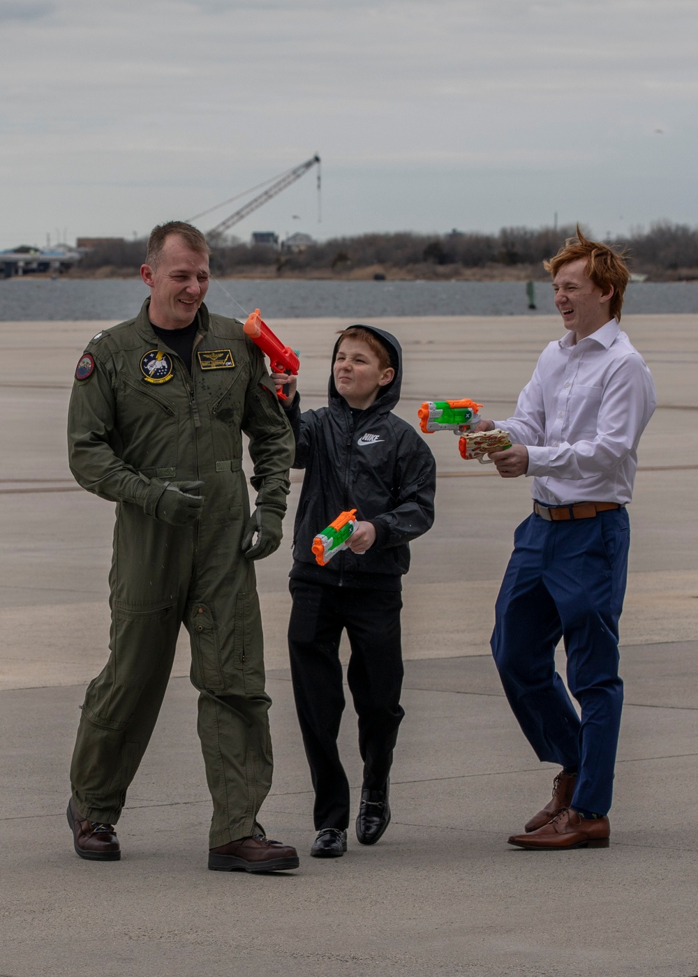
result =
[{"label": "boy in black hooded Nike jacket and black trousers", "polygon": [[[311,855],[346,851],[349,782],[337,736],[344,709],[339,641],[351,645],[347,681],[359,716],[364,783],[356,833],[374,844],[390,822],[388,775],[405,715],[400,641],[402,574],[410,540],[434,521],[436,466],[414,428],[391,413],[400,399],[402,350],[389,332],[344,330],[334,347],[328,405],[300,412],[294,378],[288,419],[294,468],[304,468],[294,528],[288,622],[293,695],[315,788]],[[290,382],[289,382],[290,381]],[[348,549],[320,567],[314,537],[340,512],[357,509]]]}]

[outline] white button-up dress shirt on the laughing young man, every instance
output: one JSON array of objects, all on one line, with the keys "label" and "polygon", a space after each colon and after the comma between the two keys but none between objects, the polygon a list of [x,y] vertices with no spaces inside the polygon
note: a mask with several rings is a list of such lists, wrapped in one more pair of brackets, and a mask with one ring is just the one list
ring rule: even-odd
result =
[{"label": "white button-up dress shirt on the laughing young man", "polygon": [[531,493],[546,505],[630,502],[637,445],[657,405],[652,374],[616,319],[548,343],[516,412],[496,421],[528,446]]}]

